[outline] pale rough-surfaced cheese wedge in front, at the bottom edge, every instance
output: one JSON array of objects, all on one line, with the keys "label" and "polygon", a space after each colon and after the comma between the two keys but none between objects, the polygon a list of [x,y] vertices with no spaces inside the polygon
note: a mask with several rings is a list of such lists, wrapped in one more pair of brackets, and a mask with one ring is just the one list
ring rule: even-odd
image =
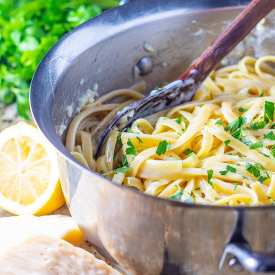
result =
[{"label": "pale rough-surfaced cheese wedge in front, at the bottom edge", "polygon": [[47,235],[34,235],[0,255],[3,275],[117,275],[118,271],[86,250]]}]

